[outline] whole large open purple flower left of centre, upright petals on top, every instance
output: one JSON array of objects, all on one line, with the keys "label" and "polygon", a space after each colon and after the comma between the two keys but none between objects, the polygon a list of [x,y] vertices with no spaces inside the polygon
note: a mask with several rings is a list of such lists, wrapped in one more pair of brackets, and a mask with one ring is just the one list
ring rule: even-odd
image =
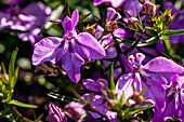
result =
[{"label": "whole large open purple flower left of centre, upright petals on top", "polygon": [[[40,65],[44,62],[53,64],[62,62],[62,67],[66,70],[73,82],[80,79],[80,67],[84,59],[101,59],[105,56],[105,51],[97,40],[88,32],[77,35],[75,29],[79,21],[79,14],[76,10],[71,18],[65,17],[63,28],[65,33],[63,38],[44,38],[35,45],[32,54],[32,64]],[[83,57],[83,58],[82,58]]]}]

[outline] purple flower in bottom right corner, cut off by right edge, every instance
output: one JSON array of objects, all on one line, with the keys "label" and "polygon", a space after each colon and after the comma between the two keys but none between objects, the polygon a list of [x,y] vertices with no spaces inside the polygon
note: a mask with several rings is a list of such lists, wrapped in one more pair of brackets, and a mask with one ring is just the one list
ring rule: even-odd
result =
[{"label": "purple flower in bottom right corner, cut off by right edge", "polygon": [[166,108],[163,111],[155,109],[153,122],[166,122],[173,119],[174,116],[184,121],[184,76],[175,74],[171,79],[171,83],[166,89]]}]

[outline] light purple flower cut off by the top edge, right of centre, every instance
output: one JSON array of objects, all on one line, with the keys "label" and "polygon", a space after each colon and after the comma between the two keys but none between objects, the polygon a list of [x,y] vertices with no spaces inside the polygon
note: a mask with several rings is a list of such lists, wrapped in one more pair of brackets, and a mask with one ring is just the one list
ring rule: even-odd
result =
[{"label": "light purple flower cut off by the top edge, right of centre", "polygon": [[98,5],[104,2],[110,2],[114,8],[119,8],[123,4],[126,0],[94,0],[93,4]]}]

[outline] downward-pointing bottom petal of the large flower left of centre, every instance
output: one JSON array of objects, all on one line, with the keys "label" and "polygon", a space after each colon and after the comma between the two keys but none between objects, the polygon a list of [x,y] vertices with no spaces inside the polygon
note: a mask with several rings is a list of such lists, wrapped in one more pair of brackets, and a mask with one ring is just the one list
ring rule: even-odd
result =
[{"label": "downward-pointing bottom petal of the large flower left of centre", "polygon": [[80,67],[84,64],[83,58],[68,45],[62,57],[62,67],[66,70],[69,79],[73,82],[78,82],[80,79]]}]

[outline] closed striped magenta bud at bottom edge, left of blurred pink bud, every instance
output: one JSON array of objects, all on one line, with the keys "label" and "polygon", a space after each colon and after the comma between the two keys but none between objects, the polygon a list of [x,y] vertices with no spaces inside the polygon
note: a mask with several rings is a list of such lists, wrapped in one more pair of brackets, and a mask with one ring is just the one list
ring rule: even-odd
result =
[{"label": "closed striped magenta bud at bottom edge, left of blurred pink bud", "polygon": [[67,122],[65,113],[54,104],[49,105],[49,116],[45,119],[49,122]]}]

